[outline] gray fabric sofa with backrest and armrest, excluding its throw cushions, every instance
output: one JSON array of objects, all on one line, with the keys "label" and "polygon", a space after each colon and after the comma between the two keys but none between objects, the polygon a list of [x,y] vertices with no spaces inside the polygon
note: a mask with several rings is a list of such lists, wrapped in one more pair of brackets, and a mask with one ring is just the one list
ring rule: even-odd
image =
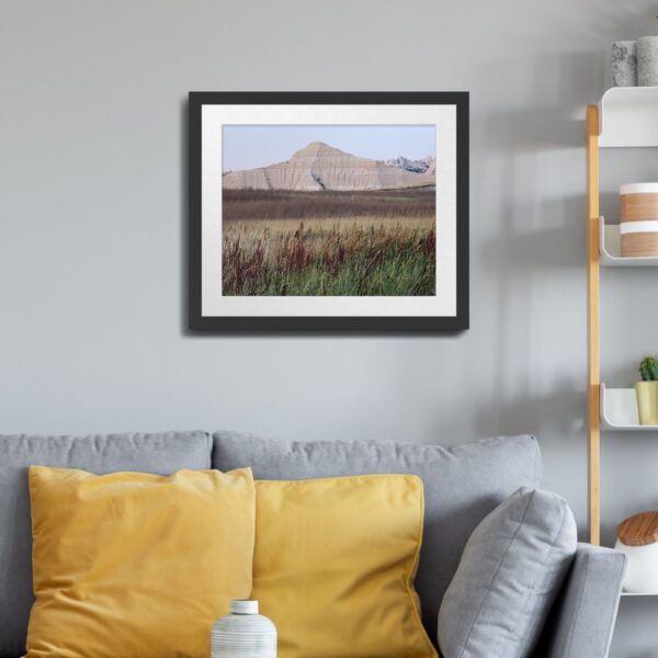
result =
[{"label": "gray fabric sofa with backrest and armrest, excluding its throw cushions", "polygon": [[[533,436],[487,439],[444,449],[410,443],[287,443],[228,432],[0,435],[0,656],[8,658],[24,651],[33,601],[26,475],[32,464],[97,474],[251,466],[260,479],[415,473],[426,488],[417,588],[423,623],[434,642],[441,600],[473,529],[519,487],[540,488],[542,484],[542,460]],[[536,658],[608,655],[624,566],[617,552],[579,545],[535,649]]]}]

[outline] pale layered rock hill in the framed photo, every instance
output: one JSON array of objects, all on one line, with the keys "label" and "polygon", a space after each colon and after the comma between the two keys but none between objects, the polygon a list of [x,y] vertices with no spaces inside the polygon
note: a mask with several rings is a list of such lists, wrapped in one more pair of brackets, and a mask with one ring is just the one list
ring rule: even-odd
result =
[{"label": "pale layered rock hill in the framed photo", "polygon": [[[429,171],[429,168],[428,168]],[[418,173],[352,156],[324,141],[313,141],[286,162],[229,171],[225,190],[396,190],[435,184],[433,173]]]}]

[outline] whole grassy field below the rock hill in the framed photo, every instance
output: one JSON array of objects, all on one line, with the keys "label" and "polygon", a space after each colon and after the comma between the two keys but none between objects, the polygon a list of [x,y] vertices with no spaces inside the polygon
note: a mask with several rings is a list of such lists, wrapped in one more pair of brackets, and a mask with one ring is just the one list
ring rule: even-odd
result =
[{"label": "whole grassy field below the rock hill in the framed photo", "polygon": [[223,294],[433,296],[435,193],[223,191]]}]

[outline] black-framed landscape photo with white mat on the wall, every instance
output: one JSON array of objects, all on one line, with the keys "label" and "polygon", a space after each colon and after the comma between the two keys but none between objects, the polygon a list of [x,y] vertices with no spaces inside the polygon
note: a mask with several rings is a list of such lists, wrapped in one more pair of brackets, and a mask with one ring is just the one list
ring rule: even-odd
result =
[{"label": "black-framed landscape photo with white mat on the wall", "polygon": [[468,94],[191,92],[190,328],[468,327]]}]

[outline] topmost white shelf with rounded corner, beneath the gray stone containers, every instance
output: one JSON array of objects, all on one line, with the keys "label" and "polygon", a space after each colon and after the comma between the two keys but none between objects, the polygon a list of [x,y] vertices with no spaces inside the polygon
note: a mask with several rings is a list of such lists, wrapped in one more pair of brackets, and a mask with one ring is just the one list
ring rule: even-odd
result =
[{"label": "topmost white shelf with rounded corner, beneath the gray stone containers", "polygon": [[658,87],[613,87],[599,116],[599,147],[658,146]]}]

